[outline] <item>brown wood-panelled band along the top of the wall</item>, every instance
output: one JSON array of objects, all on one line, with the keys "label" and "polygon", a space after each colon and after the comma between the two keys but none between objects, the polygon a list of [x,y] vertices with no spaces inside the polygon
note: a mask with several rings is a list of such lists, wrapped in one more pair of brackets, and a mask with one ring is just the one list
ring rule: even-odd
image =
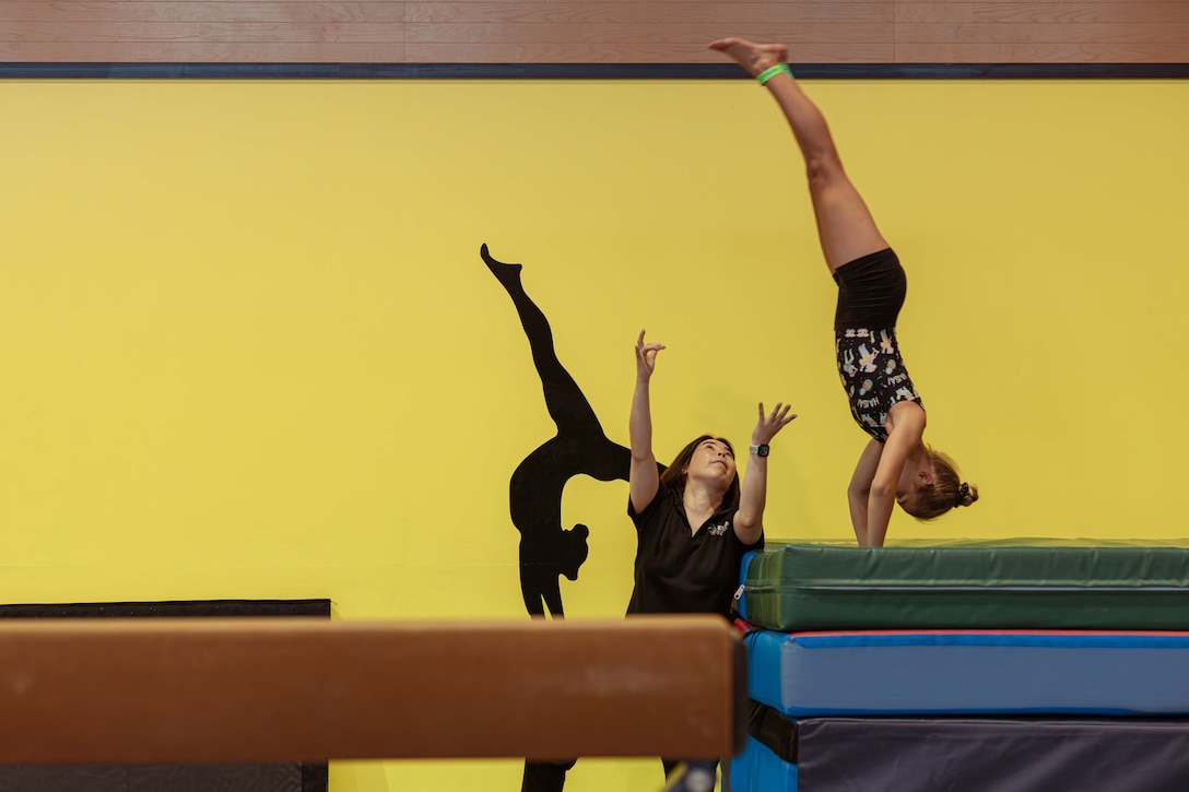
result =
[{"label": "brown wood-panelled band along the top of the wall", "polygon": [[1189,63],[1189,1],[0,1],[8,62],[722,63],[726,34],[800,63]]}]

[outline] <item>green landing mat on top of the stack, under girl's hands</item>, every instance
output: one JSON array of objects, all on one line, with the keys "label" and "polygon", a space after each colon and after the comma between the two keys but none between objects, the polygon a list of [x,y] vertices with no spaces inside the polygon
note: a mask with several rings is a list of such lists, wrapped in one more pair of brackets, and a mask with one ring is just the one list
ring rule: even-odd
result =
[{"label": "green landing mat on top of the stack, under girl's hands", "polygon": [[740,615],[784,631],[1189,629],[1189,540],[769,540],[742,583]]}]

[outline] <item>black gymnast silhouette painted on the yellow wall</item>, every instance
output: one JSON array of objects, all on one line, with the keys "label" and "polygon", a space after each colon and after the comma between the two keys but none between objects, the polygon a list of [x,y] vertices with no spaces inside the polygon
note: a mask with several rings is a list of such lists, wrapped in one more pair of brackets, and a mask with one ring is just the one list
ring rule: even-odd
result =
[{"label": "black gymnast silhouette painted on the yellow wall", "polygon": [[561,492],[566,482],[580,473],[600,482],[627,482],[631,452],[608,440],[578,383],[558,360],[549,321],[521,284],[521,265],[497,262],[486,245],[479,254],[516,306],[541,377],[545,407],[558,427],[558,434],[537,446],[512,472],[509,498],[512,524],[521,534],[524,608],[534,617],[543,618],[548,609],[551,616],[561,618],[565,611],[559,577],[578,579],[590,535],[583,524],[568,530],[561,527]]}]

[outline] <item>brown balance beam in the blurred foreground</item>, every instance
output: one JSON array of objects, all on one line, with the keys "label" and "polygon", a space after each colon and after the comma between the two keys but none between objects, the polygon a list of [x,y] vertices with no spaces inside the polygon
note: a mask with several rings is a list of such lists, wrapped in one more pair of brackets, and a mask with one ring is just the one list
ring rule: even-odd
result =
[{"label": "brown balance beam in the blurred foreground", "polygon": [[0,763],[730,756],[719,617],[0,623]]}]

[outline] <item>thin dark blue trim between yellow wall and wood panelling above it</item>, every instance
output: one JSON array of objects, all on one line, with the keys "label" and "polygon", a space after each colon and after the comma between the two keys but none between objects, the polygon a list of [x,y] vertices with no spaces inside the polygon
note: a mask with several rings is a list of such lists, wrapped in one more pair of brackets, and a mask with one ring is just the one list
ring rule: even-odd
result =
[{"label": "thin dark blue trim between yellow wall and wood panelling above it", "polygon": [[[1189,78],[1189,63],[794,63],[806,80]],[[0,63],[31,80],[742,80],[734,63]]]}]

